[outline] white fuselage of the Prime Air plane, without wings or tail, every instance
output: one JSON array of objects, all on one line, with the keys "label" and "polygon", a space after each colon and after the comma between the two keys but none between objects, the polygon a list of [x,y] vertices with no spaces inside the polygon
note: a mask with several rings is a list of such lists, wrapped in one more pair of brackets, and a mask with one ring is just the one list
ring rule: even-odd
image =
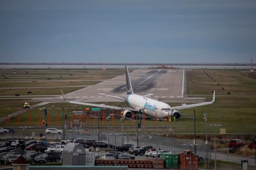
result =
[{"label": "white fuselage of the Prime Air plane, without wings or tail", "polygon": [[164,102],[156,101],[137,94],[128,94],[125,98],[129,107],[137,110],[144,109],[145,113],[151,117],[164,119],[167,118],[168,113],[169,115],[171,114],[171,112],[166,111],[166,109],[171,109],[171,107]]}]

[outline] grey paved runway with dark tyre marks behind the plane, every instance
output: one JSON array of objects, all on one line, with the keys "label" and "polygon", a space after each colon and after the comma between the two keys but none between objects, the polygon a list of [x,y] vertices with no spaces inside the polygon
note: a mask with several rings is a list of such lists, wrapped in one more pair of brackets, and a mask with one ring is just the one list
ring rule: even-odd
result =
[{"label": "grey paved runway with dark tyre marks behind the plane", "polygon": [[[133,92],[140,95],[153,94],[156,100],[183,98],[184,70],[183,69],[139,69],[130,73]],[[68,100],[80,102],[114,102],[115,98],[99,95],[108,94],[124,97],[126,95],[126,76],[121,75],[91,85],[75,92],[66,94]],[[63,98],[62,96],[59,98]]]}]

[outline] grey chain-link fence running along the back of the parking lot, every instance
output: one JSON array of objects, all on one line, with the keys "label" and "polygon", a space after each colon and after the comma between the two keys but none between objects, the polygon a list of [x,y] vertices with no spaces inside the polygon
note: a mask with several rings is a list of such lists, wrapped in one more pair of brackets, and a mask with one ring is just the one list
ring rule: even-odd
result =
[{"label": "grey chain-link fence running along the back of the parking lot", "polygon": [[[110,135],[108,135],[110,134]],[[114,139],[114,134],[116,136],[116,141]],[[82,133],[80,130],[73,130],[66,133],[66,139],[70,138],[82,138],[82,139],[94,139],[96,141],[106,141],[109,144],[121,146],[123,143],[131,143],[137,145],[137,136],[136,134],[124,133],[123,135],[120,132],[100,130],[100,135],[98,136],[98,130],[89,129],[87,133]],[[188,139],[176,139],[170,137],[162,136],[152,136],[152,135],[139,135],[139,146],[152,145],[154,148],[160,148],[161,150],[169,150],[172,153],[181,153],[183,150],[194,150],[193,140]],[[158,146],[157,146],[158,143]],[[203,159],[211,159],[211,143],[206,145],[203,142],[198,141],[196,146],[195,154],[198,154],[199,157]]]}]

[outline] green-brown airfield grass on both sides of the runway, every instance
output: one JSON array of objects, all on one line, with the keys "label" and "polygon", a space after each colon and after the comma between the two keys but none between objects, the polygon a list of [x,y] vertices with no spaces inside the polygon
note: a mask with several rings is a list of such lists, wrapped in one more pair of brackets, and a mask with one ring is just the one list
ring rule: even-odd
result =
[{"label": "green-brown airfield grass on both sides of the runway", "polygon": [[[30,72],[27,70],[23,70],[24,72]],[[37,72],[43,72],[46,74],[45,70],[36,70]],[[69,70],[57,70],[58,72],[69,72]],[[73,72],[81,72],[81,70],[72,70]],[[86,70],[87,74],[101,74],[102,70]],[[208,76],[205,74],[208,74]],[[123,74],[124,70],[110,70],[111,74]],[[110,75],[111,75],[110,74]],[[210,77],[209,77],[210,75]],[[226,128],[227,133],[255,133],[256,132],[256,79],[250,78],[245,75],[245,72],[241,72],[241,70],[203,70],[203,69],[195,69],[191,71],[186,71],[187,78],[187,94],[188,95],[199,95],[198,97],[206,97],[207,101],[212,99],[213,90],[216,91],[215,103],[212,105],[206,105],[202,107],[196,107],[186,110],[181,110],[181,113],[193,116],[194,109],[196,111],[196,130],[198,133],[204,133],[206,131],[206,122],[203,119],[203,114],[208,113],[208,132],[214,133],[219,132],[219,127],[216,129],[210,124],[220,124],[221,128]],[[211,79],[213,78],[213,79]],[[215,80],[215,82],[214,82]],[[2,79],[1,79],[2,81]],[[84,83],[97,83],[91,81],[82,81],[82,82],[46,82],[46,83],[28,83],[28,85],[41,85],[41,86],[58,86],[58,85],[85,85]],[[217,85],[219,83],[219,85]],[[17,83],[21,85],[21,87],[25,87],[26,83]],[[0,83],[1,85],[1,83]],[[8,85],[8,84],[6,84]],[[3,85],[1,85],[3,87]],[[35,86],[34,86],[35,87]],[[224,87],[224,89],[222,89]],[[79,87],[65,87],[62,88],[64,92],[70,92]],[[1,89],[2,90],[2,89]],[[24,89],[17,89],[21,91],[12,90],[0,90],[0,96],[4,95],[14,95],[16,92],[21,93],[22,95],[27,95],[27,91],[32,91],[33,95],[39,94],[60,94],[59,88],[53,89],[27,89],[24,92]],[[33,91],[36,90],[36,91]],[[40,92],[41,91],[41,92]],[[231,95],[227,95],[227,92],[230,92]],[[191,97],[191,96],[189,96]],[[1,100],[2,108],[0,108],[0,117],[6,115],[6,109],[10,108],[9,113],[12,111],[16,111],[16,108],[22,107],[22,103],[25,100]],[[34,103],[30,103],[31,105]],[[114,104],[114,105],[124,105],[124,103],[105,103],[105,104]],[[187,103],[189,104],[189,103]],[[169,103],[171,106],[181,105],[180,103]],[[40,108],[42,108],[41,106]],[[59,115],[59,124],[63,124],[63,111],[62,108],[66,107],[69,110],[67,112],[71,112],[73,108],[85,108],[85,106],[73,106],[69,103],[50,103],[45,106],[46,108],[51,108],[50,110],[50,125],[55,126],[55,117],[56,117],[56,108],[60,108]],[[31,110],[32,116],[32,125],[38,125],[38,109],[35,108]],[[76,109],[79,110],[79,109]],[[112,111],[111,111],[112,113]],[[102,112],[101,112],[102,114]],[[106,112],[107,114],[107,112]],[[108,113],[110,114],[110,113]],[[21,114],[21,124],[27,125],[27,114]],[[69,117],[69,122],[71,122],[71,117]],[[16,125],[17,118],[10,119],[10,125]],[[153,120],[146,120],[146,126],[154,125]],[[115,125],[121,125],[119,119],[115,120]],[[0,124],[5,125],[5,123]],[[94,125],[94,119],[90,120],[89,126]],[[101,122],[101,125],[102,122]],[[132,121],[125,121],[125,126],[133,125]],[[158,125],[161,127],[165,127],[161,129],[161,132],[168,133],[169,127],[168,122],[159,121]],[[106,123],[107,126],[107,123]],[[169,122],[169,126],[171,126],[174,130],[174,133],[193,133],[194,131],[194,121],[185,116],[182,116],[180,120],[175,122]],[[117,129],[115,129],[117,130]],[[150,129],[149,129],[150,130]],[[154,129],[150,130],[153,132]],[[126,129],[127,132],[134,132],[134,129]]]}]

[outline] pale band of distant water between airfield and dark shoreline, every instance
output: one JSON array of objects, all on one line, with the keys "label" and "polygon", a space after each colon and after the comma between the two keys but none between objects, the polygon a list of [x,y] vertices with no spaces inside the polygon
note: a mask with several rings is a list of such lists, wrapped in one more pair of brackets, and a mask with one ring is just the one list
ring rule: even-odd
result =
[{"label": "pale band of distant water between airfield and dark shoreline", "polygon": [[[124,65],[0,65],[0,69],[124,69]],[[159,67],[159,65],[129,65],[130,69],[147,69],[149,67]],[[167,67],[171,67],[168,65]],[[250,69],[250,66],[225,66],[225,65],[174,65],[172,67],[180,69]]]}]

